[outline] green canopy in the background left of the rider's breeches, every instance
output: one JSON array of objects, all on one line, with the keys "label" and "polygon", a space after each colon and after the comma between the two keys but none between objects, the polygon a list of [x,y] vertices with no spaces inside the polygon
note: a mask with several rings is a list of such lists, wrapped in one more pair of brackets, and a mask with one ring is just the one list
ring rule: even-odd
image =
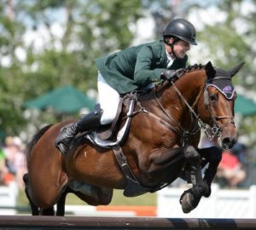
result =
[{"label": "green canopy in the background left of the rider's breeches", "polygon": [[72,86],[64,86],[47,94],[40,95],[32,101],[26,101],[26,108],[45,109],[52,107],[63,113],[79,112],[82,108],[93,110],[96,102]]}]

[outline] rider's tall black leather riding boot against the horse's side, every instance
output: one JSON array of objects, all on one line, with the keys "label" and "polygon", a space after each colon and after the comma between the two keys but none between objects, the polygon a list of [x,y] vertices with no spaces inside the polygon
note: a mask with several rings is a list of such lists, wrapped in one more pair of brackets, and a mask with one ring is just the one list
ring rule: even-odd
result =
[{"label": "rider's tall black leather riding boot against the horse's side", "polygon": [[90,112],[81,118],[77,123],[67,124],[61,129],[60,135],[55,141],[55,147],[63,154],[67,153],[73,138],[79,132],[89,131],[101,126],[102,110]]}]

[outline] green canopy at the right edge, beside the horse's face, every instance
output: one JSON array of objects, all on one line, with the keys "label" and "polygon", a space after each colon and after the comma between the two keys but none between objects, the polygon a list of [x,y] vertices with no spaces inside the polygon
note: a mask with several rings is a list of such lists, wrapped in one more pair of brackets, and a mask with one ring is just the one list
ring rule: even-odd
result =
[{"label": "green canopy at the right edge, beside the horse's face", "polygon": [[237,95],[235,112],[240,113],[243,117],[256,115],[256,103],[244,95]]}]

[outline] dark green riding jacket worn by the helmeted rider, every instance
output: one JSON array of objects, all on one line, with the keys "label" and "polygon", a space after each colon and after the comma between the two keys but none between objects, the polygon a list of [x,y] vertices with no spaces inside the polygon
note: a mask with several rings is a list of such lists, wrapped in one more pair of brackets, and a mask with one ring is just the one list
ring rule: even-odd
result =
[{"label": "dark green riding jacket worn by the helmeted rider", "polygon": [[[169,69],[183,68],[187,60],[187,55],[183,59],[176,59]],[[96,67],[102,77],[119,94],[160,81],[160,73],[166,66],[166,48],[162,40],[130,47],[96,59]]]}]

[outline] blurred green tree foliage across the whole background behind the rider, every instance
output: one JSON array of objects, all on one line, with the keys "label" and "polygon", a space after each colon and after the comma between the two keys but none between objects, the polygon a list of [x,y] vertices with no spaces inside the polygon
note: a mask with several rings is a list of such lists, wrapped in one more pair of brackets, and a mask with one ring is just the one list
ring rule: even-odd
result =
[{"label": "blurred green tree foliage across the whole background behind the rider", "polygon": [[[200,41],[196,49],[212,60],[215,66],[230,68],[245,60],[244,66],[234,78],[236,85],[254,89],[256,13],[241,14],[246,0],[196,2],[183,0],[6,0],[0,3],[0,131],[17,135],[31,123],[24,118],[24,102],[64,84],[86,92],[96,89],[96,66],[94,59],[131,45],[135,36],[135,23],[150,11],[156,22],[158,38],[166,22],[174,16],[186,18],[191,9],[203,9],[209,4],[226,14],[218,24],[206,26],[198,33]],[[249,1],[256,4],[256,0]],[[13,15],[9,12],[13,10]],[[203,20],[203,19],[202,19]],[[239,26],[246,25],[245,29]],[[56,25],[61,25],[61,37],[55,36]],[[196,25],[195,25],[196,26]],[[44,28],[44,32],[42,31]],[[57,28],[57,27],[56,27]],[[57,28],[58,29],[58,28]],[[44,46],[24,43],[26,32],[44,33]],[[30,37],[29,37],[30,38]],[[25,57],[19,57],[23,52]],[[198,62],[206,56],[196,57]],[[74,114],[76,115],[76,114]],[[39,124],[59,121],[54,111],[41,112]],[[241,124],[241,132],[252,132]]]}]

